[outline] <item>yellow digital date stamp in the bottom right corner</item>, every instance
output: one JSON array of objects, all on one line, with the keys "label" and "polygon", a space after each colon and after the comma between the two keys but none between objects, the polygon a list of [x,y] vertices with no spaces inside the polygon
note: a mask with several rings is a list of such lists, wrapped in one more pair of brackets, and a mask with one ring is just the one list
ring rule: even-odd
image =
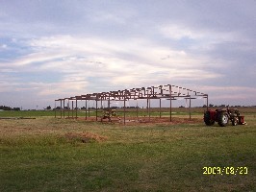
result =
[{"label": "yellow digital date stamp in the bottom right corner", "polygon": [[203,175],[246,175],[247,167],[203,167]]}]

